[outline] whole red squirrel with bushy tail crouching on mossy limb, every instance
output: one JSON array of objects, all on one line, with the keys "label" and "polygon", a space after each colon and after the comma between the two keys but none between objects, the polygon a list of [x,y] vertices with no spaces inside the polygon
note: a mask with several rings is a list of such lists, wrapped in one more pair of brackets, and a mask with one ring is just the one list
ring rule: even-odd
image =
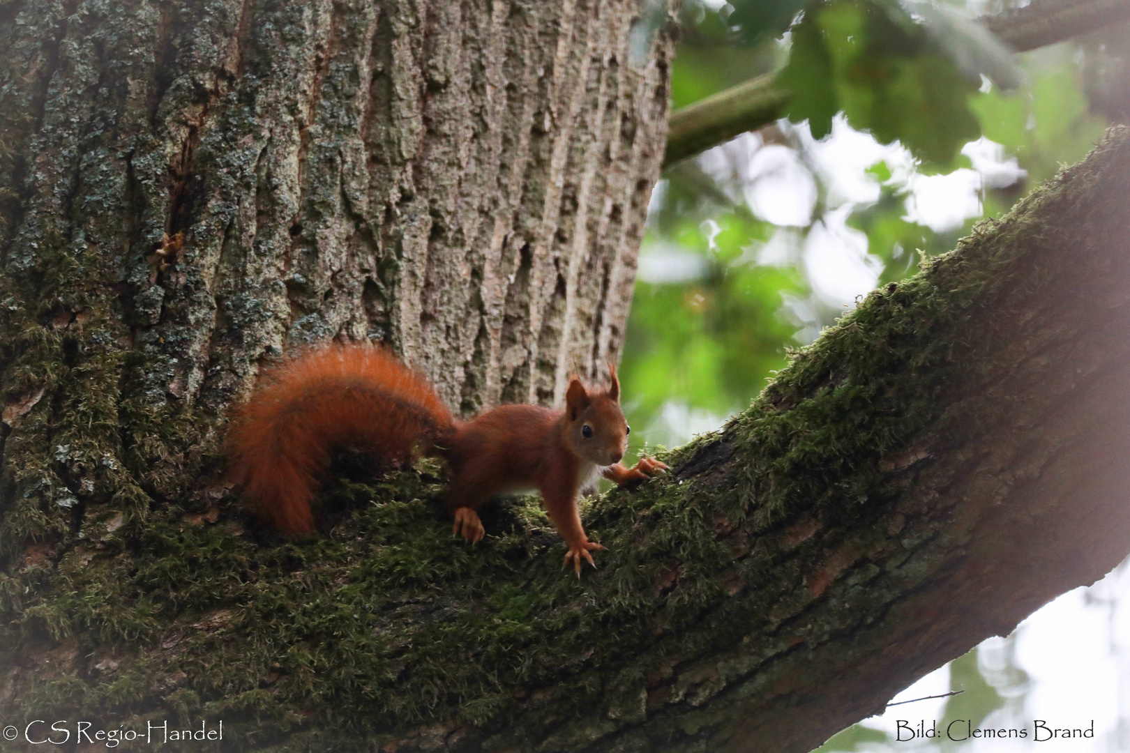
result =
[{"label": "whole red squirrel with bushy tail crouching on mossy limb", "polygon": [[470,421],[455,419],[424,377],[383,349],[329,345],[272,371],[233,415],[227,437],[232,478],[252,508],[280,533],[313,532],[310,501],[332,454],[355,447],[385,464],[417,454],[447,461],[453,534],[477,542],[486,533],[476,510],[502,492],[537,489],[568,551],[564,564],[596,567],[581,525],[579,492],[603,475],[624,485],[667,470],[652,458],[620,464],[631,430],[620,385],[586,388],[576,377],[565,410],[499,405]]}]

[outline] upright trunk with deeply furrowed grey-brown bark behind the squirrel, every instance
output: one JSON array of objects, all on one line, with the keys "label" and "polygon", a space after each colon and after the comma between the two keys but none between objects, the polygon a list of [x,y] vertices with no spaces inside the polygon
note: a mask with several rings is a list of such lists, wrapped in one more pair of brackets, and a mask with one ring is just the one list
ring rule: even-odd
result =
[{"label": "upright trunk with deeply furrowed grey-brown bark behind the squirrel", "polygon": [[389,343],[463,411],[618,360],[668,99],[638,6],[0,3],[0,554],[199,504],[295,344]]}]

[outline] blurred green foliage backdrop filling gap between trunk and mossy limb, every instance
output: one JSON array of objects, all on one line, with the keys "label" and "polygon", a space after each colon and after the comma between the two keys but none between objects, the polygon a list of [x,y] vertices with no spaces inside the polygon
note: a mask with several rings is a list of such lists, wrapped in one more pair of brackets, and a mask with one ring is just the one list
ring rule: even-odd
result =
[{"label": "blurred green foliage backdrop filling gap between trunk and mossy limb", "polygon": [[[937,29],[931,40],[894,0],[688,0],[680,14],[673,106],[783,70],[793,121],[808,122],[782,122],[685,160],[657,189],[621,367],[633,439],[652,445],[681,444],[748,405],[790,347],[810,342],[851,305],[814,278],[817,246],[832,253],[829,229],[866,245],[857,265],[877,270],[872,284],[912,274],[923,255],[953,248],[975,220],[1007,211],[1085,155],[1118,112],[1112,93],[1130,87],[1125,29],[1018,55],[1024,84],[1002,93],[973,81],[944,54],[954,45],[941,44]],[[876,161],[858,175],[829,161],[824,147],[836,135],[818,140],[835,130],[834,113],[875,138]],[[1001,149],[988,167],[958,155],[982,134]],[[758,161],[768,149],[790,150],[816,186],[805,224],[774,225],[782,220],[750,201],[755,184],[781,195],[796,189],[774,184]],[[1009,165],[1010,174],[993,173]],[[947,175],[980,183],[967,198],[980,213],[931,229],[911,205],[945,201],[921,186]],[[849,178],[871,194],[845,198]]]}]

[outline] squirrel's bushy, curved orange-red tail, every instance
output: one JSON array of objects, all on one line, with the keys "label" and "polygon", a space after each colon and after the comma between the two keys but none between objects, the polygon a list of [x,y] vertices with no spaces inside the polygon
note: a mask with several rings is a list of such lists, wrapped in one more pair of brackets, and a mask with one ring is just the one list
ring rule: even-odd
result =
[{"label": "squirrel's bushy, curved orange-red tail", "polygon": [[266,375],[235,410],[227,452],[252,508],[296,536],[313,531],[310,500],[334,450],[401,464],[453,428],[432,386],[388,351],[329,345]]}]

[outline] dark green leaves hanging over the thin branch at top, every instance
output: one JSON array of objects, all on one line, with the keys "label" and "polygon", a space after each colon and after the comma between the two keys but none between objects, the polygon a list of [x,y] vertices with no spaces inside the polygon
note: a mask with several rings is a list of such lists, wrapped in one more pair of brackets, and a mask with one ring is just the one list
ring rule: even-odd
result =
[{"label": "dark green leaves hanging over the thin branch at top", "polygon": [[[786,52],[777,82],[792,93],[791,121],[807,120],[819,139],[843,113],[853,128],[939,166],[979,135],[967,99],[980,75],[1009,88],[1019,82],[991,35],[944,6],[912,0],[690,2],[684,27],[673,106],[774,70]],[[788,51],[773,43],[785,29]]]}]

